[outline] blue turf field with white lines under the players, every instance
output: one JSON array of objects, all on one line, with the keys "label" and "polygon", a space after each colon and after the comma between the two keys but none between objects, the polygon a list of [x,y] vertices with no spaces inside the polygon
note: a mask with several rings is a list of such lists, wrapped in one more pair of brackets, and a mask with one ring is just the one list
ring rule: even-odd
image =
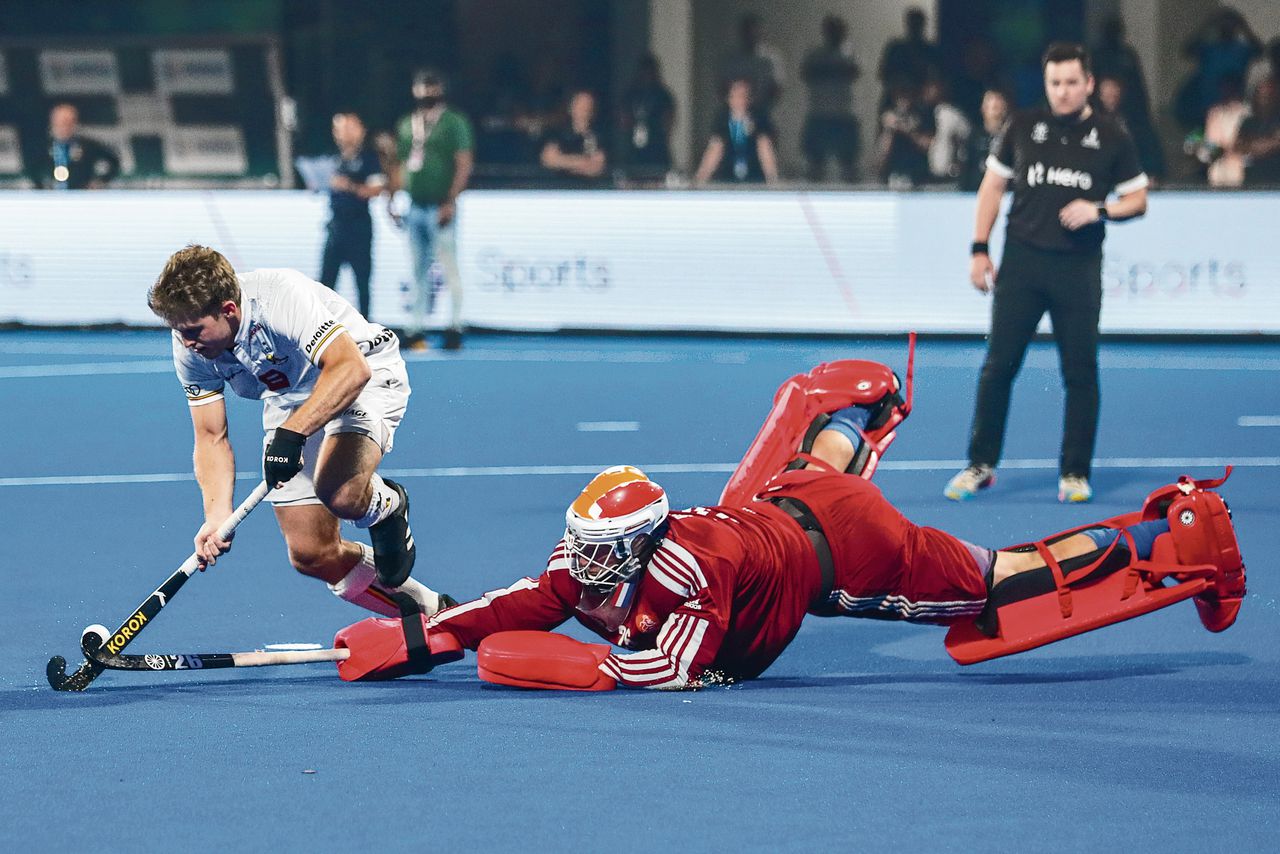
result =
[{"label": "blue turf field with white lines under the players", "polygon": [[[471,657],[393,684],[314,665],[108,672],[58,694],[47,658],[191,551],[189,419],[159,333],[0,333],[0,850],[1272,850],[1280,346],[1106,343],[1085,507],[1055,501],[1047,344],[1015,389],[998,487],[942,499],[980,353],[922,342],[886,494],[998,547],[1234,461],[1249,595],[1233,629],[1181,603],[961,668],[943,630],[812,618],[759,681],[685,694],[503,690]],[[539,572],[611,463],[648,467],[675,504],[714,501],[778,383],[840,357],[901,371],[905,342],[475,337],[411,361],[385,467],[413,495],[415,575],[463,598]],[[230,414],[243,495],[259,407]],[[262,507],[129,652],[328,643],[361,616],[292,572]]]}]

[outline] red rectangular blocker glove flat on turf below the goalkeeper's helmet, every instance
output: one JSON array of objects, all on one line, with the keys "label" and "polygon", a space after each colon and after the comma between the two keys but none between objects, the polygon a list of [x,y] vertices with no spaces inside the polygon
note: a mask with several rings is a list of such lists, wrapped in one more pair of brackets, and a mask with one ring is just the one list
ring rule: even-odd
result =
[{"label": "red rectangular blocker glove flat on turf below the goalkeeper's helmet", "polygon": [[486,682],[561,691],[612,691],[600,672],[608,644],[584,644],[553,631],[499,631],[480,641],[476,666]]}]

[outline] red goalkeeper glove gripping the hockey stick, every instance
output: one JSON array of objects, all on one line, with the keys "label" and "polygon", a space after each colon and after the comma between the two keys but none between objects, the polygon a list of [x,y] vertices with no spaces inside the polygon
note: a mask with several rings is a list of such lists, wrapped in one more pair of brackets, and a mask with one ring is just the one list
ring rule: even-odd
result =
[{"label": "red goalkeeper glove gripping the hockey stick", "polygon": [[[425,644],[411,653],[408,635],[415,635],[412,622],[421,626]],[[404,621],[370,617],[349,625],[334,635],[337,649],[349,649],[351,657],[338,662],[338,676],[344,681],[378,681],[425,673],[436,665],[458,661],[465,654],[462,644],[451,632],[426,627],[426,617],[417,613]]]}]

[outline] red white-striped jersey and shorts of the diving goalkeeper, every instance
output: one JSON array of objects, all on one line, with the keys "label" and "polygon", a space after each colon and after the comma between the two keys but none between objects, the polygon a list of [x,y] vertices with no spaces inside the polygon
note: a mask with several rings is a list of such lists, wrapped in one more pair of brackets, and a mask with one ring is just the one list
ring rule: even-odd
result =
[{"label": "red white-striped jersey and shorts of the diving goalkeeper", "polygon": [[[965,544],[913,525],[868,481],[797,471],[774,480],[768,494],[795,497],[822,521],[835,557],[833,590],[822,589],[800,525],[758,501],[673,512],[627,607],[616,611],[625,613],[616,625],[608,609],[579,609],[582,585],[570,576],[563,540],[539,577],[442,611],[430,625],[475,649],[498,631],[550,630],[575,617],[627,650],[600,666],[620,684],[680,689],[759,676],[815,600],[851,616],[934,622],[980,609],[986,585]],[[933,598],[922,602],[916,589]],[[938,604],[945,615],[931,611]]]}]

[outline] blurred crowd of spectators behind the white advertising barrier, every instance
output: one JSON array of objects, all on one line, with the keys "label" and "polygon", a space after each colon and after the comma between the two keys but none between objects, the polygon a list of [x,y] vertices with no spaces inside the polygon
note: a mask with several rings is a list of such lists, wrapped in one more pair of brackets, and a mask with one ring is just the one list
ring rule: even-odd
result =
[{"label": "blurred crowd of spectators behind the white advertising barrier", "polygon": [[[925,13],[909,9],[902,33],[878,58],[876,91],[868,95],[872,87],[856,85],[872,73],[854,55],[845,19],[822,20],[794,85],[762,19],[742,15],[716,68],[719,109],[707,127],[694,128],[696,150],[684,170],[673,157],[672,131],[689,117],[677,115],[652,54],[639,60],[613,102],[602,99],[600,87],[566,82],[566,69],[554,61],[526,67],[503,54],[488,81],[466,82],[472,97],[453,111],[474,128],[467,138],[474,186],[684,187],[786,178],[972,191],[1011,110],[1032,105],[1018,97],[1028,87],[1004,68],[989,38],[972,38],[959,69],[947,69],[927,31]],[[1094,109],[1125,125],[1157,184],[1280,184],[1280,38],[1263,45],[1243,15],[1222,8],[1183,50],[1194,70],[1161,115],[1123,20],[1107,20],[1091,46]],[[447,77],[436,74],[447,91]],[[1038,92],[1038,83],[1032,90]],[[863,127],[856,92],[877,99],[874,127]],[[801,127],[781,127],[780,104],[801,97]],[[360,118],[358,109],[352,115]],[[56,106],[50,127],[50,161],[32,173],[37,184],[93,187],[118,173],[109,150],[77,136],[74,108]],[[799,141],[803,163],[780,164],[780,134]],[[384,170],[394,165],[394,136],[374,136]],[[1169,163],[1170,155],[1178,160]]]}]

